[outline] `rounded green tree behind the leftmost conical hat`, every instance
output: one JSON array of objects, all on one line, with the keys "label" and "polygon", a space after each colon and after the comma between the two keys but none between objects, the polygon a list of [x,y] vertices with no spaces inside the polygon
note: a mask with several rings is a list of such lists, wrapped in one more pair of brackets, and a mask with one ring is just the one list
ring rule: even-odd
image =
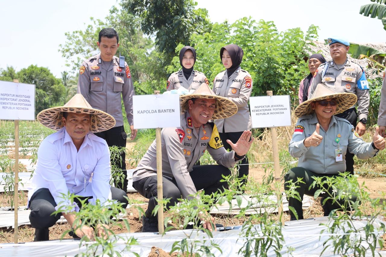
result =
[{"label": "rounded green tree behind the leftmost conical hat", "polygon": [[17,73],[19,82],[34,84],[36,113],[62,103],[65,88],[60,79],[45,67],[30,65]]}]

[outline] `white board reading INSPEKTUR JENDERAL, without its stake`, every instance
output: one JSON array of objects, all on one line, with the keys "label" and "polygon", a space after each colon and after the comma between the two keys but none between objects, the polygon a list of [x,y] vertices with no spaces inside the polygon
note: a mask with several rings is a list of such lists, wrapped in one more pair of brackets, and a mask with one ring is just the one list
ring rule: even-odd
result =
[{"label": "white board reading INSPEKTUR JENDERAL, without its stake", "polygon": [[291,126],[289,95],[249,98],[253,128]]}]

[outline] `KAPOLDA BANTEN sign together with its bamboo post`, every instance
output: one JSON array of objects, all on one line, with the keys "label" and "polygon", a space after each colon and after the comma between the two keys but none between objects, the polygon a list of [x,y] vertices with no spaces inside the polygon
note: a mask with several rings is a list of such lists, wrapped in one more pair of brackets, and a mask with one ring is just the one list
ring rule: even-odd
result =
[{"label": "KAPOLDA BANTEN sign together with its bamboo post", "polygon": [[[163,199],[162,186],[162,149],[161,128],[180,127],[179,95],[159,95],[155,90],[154,95],[133,96],[134,128],[156,128],[157,152],[157,198]],[[158,232],[164,233],[164,206],[159,203]]]}]

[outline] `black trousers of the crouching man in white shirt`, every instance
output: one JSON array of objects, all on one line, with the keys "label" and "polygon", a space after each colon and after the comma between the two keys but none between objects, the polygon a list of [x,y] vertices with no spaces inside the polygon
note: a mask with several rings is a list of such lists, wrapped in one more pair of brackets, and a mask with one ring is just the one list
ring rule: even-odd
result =
[{"label": "black trousers of the crouching man in white shirt", "polygon": [[[126,208],[129,203],[124,196],[127,194],[119,188],[110,188],[112,200],[117,200],[120,203],[124,203],[123,207]],[[83,199],[92,198],[83,197]],[[78,199],[75,199],[75,202],[78,204],[79,208],[81,208],[81,204]],[[34,194],[32,194],[31,199],[29,201],[29,208],[31,209],[31,213],[29,215],[29,221],[34,228],[49,228],[55,225],[56,221],[59,220],[61,213],[51,215],[55,210],[56,202],[52,197],[48,188],[40,188],[37,189]]]}]

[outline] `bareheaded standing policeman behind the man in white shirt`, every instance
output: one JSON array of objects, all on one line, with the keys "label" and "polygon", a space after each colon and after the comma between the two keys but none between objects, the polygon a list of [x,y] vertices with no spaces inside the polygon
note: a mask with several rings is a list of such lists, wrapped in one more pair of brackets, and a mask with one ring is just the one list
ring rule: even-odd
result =
[{"label": "bareheaded standing policeman behind the man in white shirt", "polygon": [[[118,34],[112,28],[105,28],[99,32],[97,45],[100,53],[88,58],[82,63],[79,71],[78,93],[81,93],[93,108],[97,108],[115,118],[115,127],[110,130],[95,133],[106,140],[109,147],[126,147],[127,134],[123,126],[121,94],[125,105],[127,121],[130,124],[131,137],[134,139],[137,130],[133,125],[133,100],[134,87],[131,80],[130,69],[127,63],[114,56],[119,47]],[[120,156],[122,162],[116,165],[122,169],[124,183],[121,179],[115,181],[117,188],[127,191],[127,171],[125,164],[125,151]]]}]

